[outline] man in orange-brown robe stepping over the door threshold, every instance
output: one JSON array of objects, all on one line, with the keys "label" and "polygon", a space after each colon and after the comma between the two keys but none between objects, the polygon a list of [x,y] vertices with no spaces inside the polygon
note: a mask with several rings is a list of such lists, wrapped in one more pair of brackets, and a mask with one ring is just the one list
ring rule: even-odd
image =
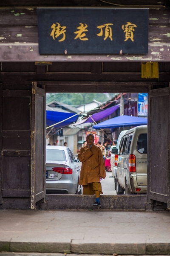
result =
[{"label": "man in orange-brown robe stepping over the door threshold", "polygon": [[100,194],[103,192],[100,180],[106,177],[105,162],[101,149],[94,144],[94,135],[88,134],[86,141],[87,145],[81,147],[78,153],[78,158],[82,162],[79,185],[83,187],[83,195],[96,196],[94,206],[101,206]]}]

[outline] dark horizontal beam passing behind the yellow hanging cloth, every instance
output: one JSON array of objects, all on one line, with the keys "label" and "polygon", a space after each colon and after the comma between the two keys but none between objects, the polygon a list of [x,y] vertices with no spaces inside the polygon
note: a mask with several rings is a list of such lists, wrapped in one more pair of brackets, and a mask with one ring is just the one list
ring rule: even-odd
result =
[{"label": "dark horizontal beam passing behind the yellow hanging cloth", "polygon": [[[141,73],[107,73],[107,74],[83,74],[83,73],[0,73],[1,82],[3,82],[4,90],[10,85],[10,90],[20,89],[21,84],[25,84],[26,81],[110,81],[110,82],[157,82],[158,79],[142,79]],[[159,82],[169,82],[170,73],[159,73]],[[168,86],[168,85],[167,85]],[[28,87],[25,85],[25,87]],[[27,88],[26,88],[27,89]]]}]

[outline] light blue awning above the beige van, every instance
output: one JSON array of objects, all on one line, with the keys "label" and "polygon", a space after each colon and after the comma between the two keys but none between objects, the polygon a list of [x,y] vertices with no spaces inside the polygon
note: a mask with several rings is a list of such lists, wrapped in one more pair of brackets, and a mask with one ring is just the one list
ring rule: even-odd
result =
[{"label": "light blue awning above the beige van", "polygon": [[136,117],[136,116],[116,116],[104,122],[101,122],[97,125],[94,125],[93,128],[104,129],[104,128],[116,128],[116,127],[122,127],[122,126],[139,126],[139,125],[147,125],[147,118]]}]

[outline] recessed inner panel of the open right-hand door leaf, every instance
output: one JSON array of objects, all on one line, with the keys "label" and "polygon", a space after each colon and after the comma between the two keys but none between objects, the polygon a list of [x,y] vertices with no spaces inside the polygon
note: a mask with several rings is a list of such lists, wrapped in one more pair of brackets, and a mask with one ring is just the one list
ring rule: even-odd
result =
[{"label": "recessed inner panel of the open right-hand door leaf", "polygon": [[151,97],[151,191],[167,195],[168,110],[169,97]]}]

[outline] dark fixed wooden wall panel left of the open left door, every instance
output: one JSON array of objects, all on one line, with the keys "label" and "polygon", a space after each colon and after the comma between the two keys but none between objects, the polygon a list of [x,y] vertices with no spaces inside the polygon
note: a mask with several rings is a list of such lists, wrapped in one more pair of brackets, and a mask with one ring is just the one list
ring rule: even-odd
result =
[{"label": "dark fixed wooden wall panel left of the open left door", "polygon": [[31,90],[3,90],[2,196],[30,198]]}]

